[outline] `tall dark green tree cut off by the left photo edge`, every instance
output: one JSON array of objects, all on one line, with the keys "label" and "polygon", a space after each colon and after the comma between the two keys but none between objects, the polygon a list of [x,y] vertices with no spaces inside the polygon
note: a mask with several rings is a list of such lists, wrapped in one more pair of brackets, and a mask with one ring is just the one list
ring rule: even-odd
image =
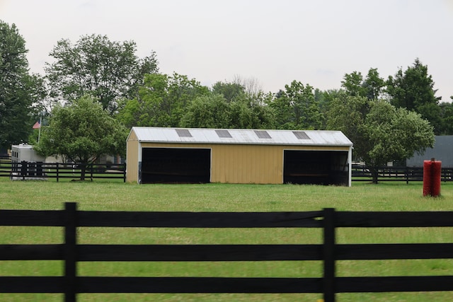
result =
[{"label": "tall dark green tree cut off by the left photo edge", "polygon": [[16,25],[0,21],[0,149],[27,141],[32,132],[38,77],[28,74],[25,40]]}]

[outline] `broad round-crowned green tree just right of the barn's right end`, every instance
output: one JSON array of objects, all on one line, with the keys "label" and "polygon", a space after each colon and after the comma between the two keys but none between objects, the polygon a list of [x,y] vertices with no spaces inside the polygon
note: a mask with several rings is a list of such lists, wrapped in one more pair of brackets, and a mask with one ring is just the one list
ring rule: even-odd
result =
[{"label": "broad round-crowned green tree just right of the barn's right end", "polygon": [[418,113],[384,100],[343,94],[331,103],[328,129],[342,131],[354,144],[354,156],[369,167],[377,183],[378,168],[402,161],[434,145],[433,128]]}]

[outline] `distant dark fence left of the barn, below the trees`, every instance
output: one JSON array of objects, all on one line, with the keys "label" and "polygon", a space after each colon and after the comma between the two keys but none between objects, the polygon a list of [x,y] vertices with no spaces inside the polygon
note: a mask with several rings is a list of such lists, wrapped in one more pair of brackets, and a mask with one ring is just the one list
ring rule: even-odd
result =
[{"label": "distant dark fence left of the barn, below the trees", "polygon": [[30,163],[22,161],[14,163],[11,161],[0,162],[0,177],[9,177],[12,180],[43,180],[56,178],[81,179],[82,172],[85,171],[86,179],[122,179],[126,181],[125,164],[94,164],[82,165],[72,163]]}]

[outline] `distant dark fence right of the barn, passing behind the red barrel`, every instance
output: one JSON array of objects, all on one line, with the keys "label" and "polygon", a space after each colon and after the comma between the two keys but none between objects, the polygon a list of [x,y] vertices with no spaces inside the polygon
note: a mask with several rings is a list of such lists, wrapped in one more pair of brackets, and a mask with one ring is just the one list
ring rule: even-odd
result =
[{"label": "distant dark fence right of the barn, passing behind the red barrel", "polygon": [[[378,181],[423,181],[423,167],[379,167]],[[453,168],[442,168],[442,182],[453,181]],[[372,173],[366,165],[352,165],[352,181],[370,181]]]}]

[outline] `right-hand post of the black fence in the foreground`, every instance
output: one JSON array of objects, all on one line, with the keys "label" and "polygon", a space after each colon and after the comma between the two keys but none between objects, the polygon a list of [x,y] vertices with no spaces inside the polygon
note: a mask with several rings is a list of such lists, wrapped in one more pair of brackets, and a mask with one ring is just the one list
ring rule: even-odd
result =
[{"label": "right-hand post of the black fence in the foreground", "polygon": [[323,209],[323,298],[335,302],[335,209]]}]

